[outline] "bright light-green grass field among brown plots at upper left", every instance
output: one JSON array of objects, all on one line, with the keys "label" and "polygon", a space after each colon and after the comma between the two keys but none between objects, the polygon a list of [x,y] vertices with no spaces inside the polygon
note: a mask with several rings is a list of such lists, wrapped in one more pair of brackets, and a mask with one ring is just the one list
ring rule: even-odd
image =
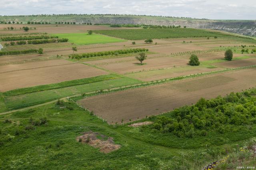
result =
[{"label": "bright light-green grass field among brown plots at upper left", "polygon": [[76,45],[116,43],[125,41],[123,39],[117,39],[114,37],[108,37],[99,34],[88,35],[87,33],[62,33],[54,35],[58,36],[59,38],[68,38],[69,42],[74,43]]}]

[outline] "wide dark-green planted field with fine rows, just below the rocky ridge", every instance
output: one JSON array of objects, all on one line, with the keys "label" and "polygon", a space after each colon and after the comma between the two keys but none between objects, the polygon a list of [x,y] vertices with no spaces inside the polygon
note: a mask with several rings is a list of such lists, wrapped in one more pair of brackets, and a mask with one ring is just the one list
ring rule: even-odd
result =
[{"label": "wide dark-green planted field with fine rows, just below the rocky ridge", "polygon": [[157,38],[180,38],[180,37],[226,37],[230,36],[223,33],[206,31],[202,29],[180,28],[180,29],[112,29],[112,30],[95,30],[112,37],[118,37],[130,40],[140,39],[157,39]]}]

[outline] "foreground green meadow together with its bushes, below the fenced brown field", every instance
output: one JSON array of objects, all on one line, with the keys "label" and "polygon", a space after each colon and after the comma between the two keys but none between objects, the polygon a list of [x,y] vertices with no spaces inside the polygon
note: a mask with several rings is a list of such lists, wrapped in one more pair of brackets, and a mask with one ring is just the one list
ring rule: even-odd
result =
[{"label": "foreground green meadow together with its bushes, below the fenced brown field", "polygon": [[[252,123],[255,114],[248,115],[248,119],[243,115],[246,110],[255,110],[252,106],[256,100],[254,95],[255,90],[251,90],[211,101],[200,100],[194,106],[143,119],[141,121],[154,121],[154,124],[138,128],[126,125],[114,128],[73,102],[0,115],[0,167],[202,170],[209,163],[234,153],[239,152],[239,159],[248,158],[240,148],[255,134],[256,126]],[[215,103],[227,112],[218,111]],[[232,107],[236,112],[228,112]],[[232,119],[227,119],[228,116]],[[45,124],[33,124],[44,117]],[[176,122],[176,119],[179,121],[175,127],[177,131],[172,131],[172,126],[167,123]],[[235,123],[230,124],[233,121]],[[188,125],[190,123],[192,126]],[[162,126],[160,130],[159,125]],[[202,129],[201,125],[206,127]],[[194,130],[186,131],[184,128],[187,127]],[[86,131],[112,137],[121,147],[104,154],[97,148],[77,142],[76,137]],[[254,143],[251,141],[251,145]],[[246,162],[251,163],[255,161]]]}]

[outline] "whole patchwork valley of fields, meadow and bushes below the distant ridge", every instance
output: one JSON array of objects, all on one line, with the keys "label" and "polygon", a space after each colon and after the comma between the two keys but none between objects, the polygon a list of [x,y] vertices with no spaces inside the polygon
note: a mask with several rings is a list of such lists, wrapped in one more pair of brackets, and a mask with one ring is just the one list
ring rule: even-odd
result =
[{"label": "whole patchwork valley of fields, meadow and bushes below the distant ridge", "polygon": [[255,39],[142,27],[0,24],[0,167],[202,170],[240,152],[256,133]]}]

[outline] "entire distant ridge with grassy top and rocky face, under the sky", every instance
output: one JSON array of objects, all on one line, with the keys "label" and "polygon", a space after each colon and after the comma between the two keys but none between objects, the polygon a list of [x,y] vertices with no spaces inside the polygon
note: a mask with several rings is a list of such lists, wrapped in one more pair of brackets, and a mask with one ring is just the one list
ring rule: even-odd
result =
[{"label": "entire distant ridge with grassy top and rocky face, under the sky", "polygon": [[204,20],[193,18],[173,18],[161,16],[134,15],[37,15],[37,16],[0,16],[0,21],[40,22],[76,22],[99,24],[145,24],[145,25],[181,25],[190,28],[217,29],[248,36],[256,36],[256,21]]}]

